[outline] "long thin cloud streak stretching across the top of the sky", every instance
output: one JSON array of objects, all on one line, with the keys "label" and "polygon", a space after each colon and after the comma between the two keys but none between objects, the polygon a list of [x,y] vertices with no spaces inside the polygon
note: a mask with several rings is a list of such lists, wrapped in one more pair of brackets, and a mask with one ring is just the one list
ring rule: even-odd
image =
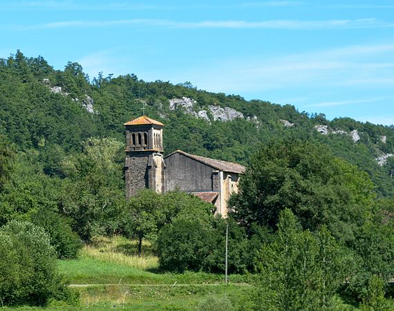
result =
[{"label": "long thin cloud streak stretching across the top of the sky", "polygon": [[276,30],[328,30],[357,28],[393,28],[394,23],[377,19],[329,19],[324,21],[270,20],[270,21],[173,21],[167,19],[120,19],[111,21],[56,21],[30,26],[6,26],[13,30],[58,28],[108,28],[115,26],[151,26],[167,28],[232,28]]}]

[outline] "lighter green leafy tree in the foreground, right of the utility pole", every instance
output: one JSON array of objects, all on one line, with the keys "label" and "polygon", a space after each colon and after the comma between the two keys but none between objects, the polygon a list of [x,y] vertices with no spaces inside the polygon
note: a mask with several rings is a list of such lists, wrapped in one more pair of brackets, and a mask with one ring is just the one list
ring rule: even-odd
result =
[{"label": "lighter green leafy tree in the foreground, right of the utility pole", "polygon": [[330,310],[346,275],[339,246],[326,227],[316,235],[303,231],[290,209],[279,218],[276,240],[260,253],[257,308]]}]

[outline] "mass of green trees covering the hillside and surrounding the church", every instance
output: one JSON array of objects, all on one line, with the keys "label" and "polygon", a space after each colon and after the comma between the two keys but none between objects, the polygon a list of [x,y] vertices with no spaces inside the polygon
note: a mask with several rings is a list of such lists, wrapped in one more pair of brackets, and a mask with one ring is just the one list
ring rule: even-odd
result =
[{"label": "mass of green trees covering the hillside and surrounding the church", "polygon": [[[169,100],[182,97],[196,100],[192,109],[204,109],[209,120],[170,108]],[[178,191],[124,198],[122,124],[138,117],[142,104],[166,124],[166,153],[247,165],[228,219]],[[214,120],[209,106],[244,118]],[[319,124],[327,135],[316,131]],[[228,226],[229,273],[259,276],[245,298],[250,308],[328,310],[341,294],[365,310],[390,310],[390,153],[394,126],[329,121],[190,83],[101,74],[89,81],[77,63],[55,70],[17,51],[0,59],[0,302],[67,298],[54,256],[75,258],[81,241],[97,235],[137,238],[139,254],[151,241],[162,270],[221,274]],[[386,156],[382,166],[379,156]]]}]

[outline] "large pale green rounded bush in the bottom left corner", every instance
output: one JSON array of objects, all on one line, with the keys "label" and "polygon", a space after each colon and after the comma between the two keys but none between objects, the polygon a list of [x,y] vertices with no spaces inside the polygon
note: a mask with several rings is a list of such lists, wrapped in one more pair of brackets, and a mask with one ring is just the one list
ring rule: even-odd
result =
[{"label": "large pale green rounded bush in the bottom left corner", "polygon": [[71,291],[56,272],[55,249],[44,229],[12,220],[0,229],[0,297],[3,305],[46,305]]}]

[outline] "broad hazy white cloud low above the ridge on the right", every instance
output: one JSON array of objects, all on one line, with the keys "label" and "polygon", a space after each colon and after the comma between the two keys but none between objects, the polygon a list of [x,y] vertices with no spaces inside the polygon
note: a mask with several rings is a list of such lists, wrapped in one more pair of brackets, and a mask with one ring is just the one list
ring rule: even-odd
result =
[{"label": "broad hazy white cloud low above the ridge on the right", "polygon": [[394,44],[345,46],[269,59],[219,59],[205,68],[182,70],[190,81],[210,91],[264,93],[295,88],[308,89],[303,94],[309,94],[350,86],[376,89],[394,84],[393,51]]}]

